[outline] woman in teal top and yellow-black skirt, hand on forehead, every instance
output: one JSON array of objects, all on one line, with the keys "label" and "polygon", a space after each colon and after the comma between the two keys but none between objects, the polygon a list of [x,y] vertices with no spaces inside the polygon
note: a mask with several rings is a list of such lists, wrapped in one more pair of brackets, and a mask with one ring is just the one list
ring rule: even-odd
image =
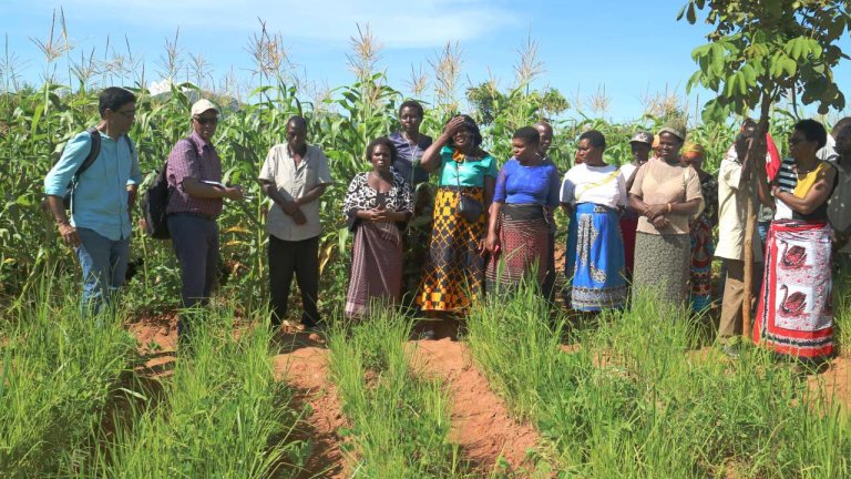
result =
[{"label": "woman in teal top and yellow-black skirt, hand on forehead", "polygon": [[[483,151],[473,119],[455,116],[426,150],[420,165],[439,171],[434,223],[417,305],[435,318],[460,314],[484,283],[484,240],[496,161]],[[427,328],[424,337],[433,337]]]}]

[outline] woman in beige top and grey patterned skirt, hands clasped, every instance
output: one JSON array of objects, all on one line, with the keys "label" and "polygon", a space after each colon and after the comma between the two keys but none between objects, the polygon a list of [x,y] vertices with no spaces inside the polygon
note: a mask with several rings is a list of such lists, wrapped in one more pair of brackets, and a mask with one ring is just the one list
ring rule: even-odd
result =
[{"label": "woman in beige top and grey patterned skirt, hands clasped", "polygon": [[638,170],[629,190],[629,204],[642,214],[635,235],[633,300],[649,295],[679,307],[688,297],[688,220],[699,213],[703,194],[697,172],[680,163],[685,126],[666,125],[658,137],[657,155]]}]

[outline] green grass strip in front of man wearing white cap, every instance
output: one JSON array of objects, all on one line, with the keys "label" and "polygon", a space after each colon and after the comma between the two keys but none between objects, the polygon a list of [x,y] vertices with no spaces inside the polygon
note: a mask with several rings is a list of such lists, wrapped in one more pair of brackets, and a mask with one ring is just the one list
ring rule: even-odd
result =
[{"label": "green grass strip in front of man wearing white cap", "polygon": [[274,377],[263,323],[233,332],[234,309],[196,312],[192,350],[165,384],[167,401],[140,410],[99,449],[88,477],[295,477],[307,446],[290,391]]}]

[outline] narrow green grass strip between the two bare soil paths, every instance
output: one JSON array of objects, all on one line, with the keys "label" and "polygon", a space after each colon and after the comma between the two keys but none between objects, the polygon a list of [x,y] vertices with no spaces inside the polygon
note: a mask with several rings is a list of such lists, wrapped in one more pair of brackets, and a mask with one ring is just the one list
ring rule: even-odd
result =
[{"label": "narrow green grass strip between the two bare soil paths", "polygon": [[449,441],[449,395],[441,380],[411,368],[404,347],[411,323],[390,308],[329,338],[330,371],[351,424],[351,476],[464,477],[458,445]]}]

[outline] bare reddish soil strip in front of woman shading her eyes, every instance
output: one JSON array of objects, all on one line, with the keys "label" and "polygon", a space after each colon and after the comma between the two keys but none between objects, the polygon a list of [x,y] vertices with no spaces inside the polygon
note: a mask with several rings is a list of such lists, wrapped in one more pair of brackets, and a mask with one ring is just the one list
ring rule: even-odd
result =
[{"label": "bare reddish soil strip in front of woman shading her eyes", "polygon": [[526,451],[537,446],[540,435],[527,424],[514,420],[472,364],[463,343],[450,339],[414,342],[416,361],[427,374],[440,376],[452,394],[450,440],[461,445],[466,458],[490,472],[503,457],[512,470],[530,466]]}]

